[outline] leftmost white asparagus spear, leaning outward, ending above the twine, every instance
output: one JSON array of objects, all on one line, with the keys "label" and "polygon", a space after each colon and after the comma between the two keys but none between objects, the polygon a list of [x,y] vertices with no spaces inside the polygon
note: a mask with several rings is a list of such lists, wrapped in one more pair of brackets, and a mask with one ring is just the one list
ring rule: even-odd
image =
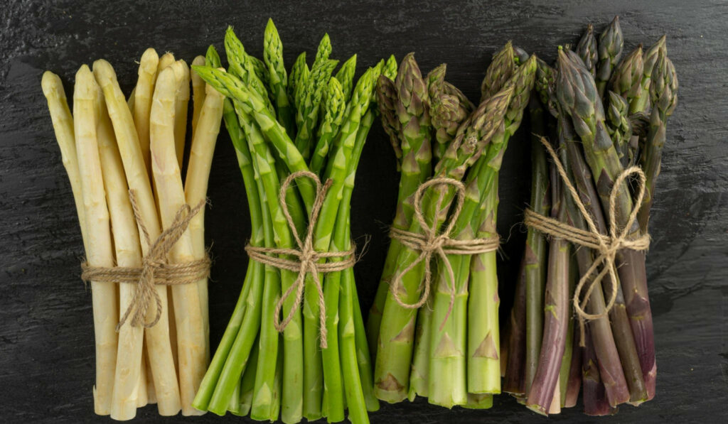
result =
[{"label": "leftmost white asparagus spear, leaning outward, ending above the twine", "polygon": [[58,140],[58,147],[60,148],[60,160],[63,162],[63,167],[66,168],[68,181],[71,183],[71,191],[74,193],[76,214],[79,216],[79,226],[81,227],[81,238],[88,256],[84,195],[81,188],[81,177],[79,176],[79,159],[76,157],[74,117],[71,116],[71,110],[68,109],[66,92],[63,90],[63,84],[60,82],[58,75],[51,71],[45,71],[41,80],[41,87],[43,95],[48,100],[48,111],[53,122],[55,139]]}]

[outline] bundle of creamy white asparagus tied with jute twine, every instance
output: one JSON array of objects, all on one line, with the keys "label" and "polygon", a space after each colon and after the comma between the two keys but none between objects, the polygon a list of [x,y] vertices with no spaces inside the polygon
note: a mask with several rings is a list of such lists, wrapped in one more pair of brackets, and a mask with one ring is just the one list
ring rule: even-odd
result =
[{"label": "bundle of creamy white asparagus tied with jute twine", "polygon": [[203,214],[223,97],[192,82],[183,184],[190,84],[183,60],[147,49],[128,103],[106,60],[93,71],[82,65],[74,116],[60,78],[43,75],[91,281],[95,412],[116,420],[151,403],[161,415],[199,415],[191,403],[209,356]]}]

